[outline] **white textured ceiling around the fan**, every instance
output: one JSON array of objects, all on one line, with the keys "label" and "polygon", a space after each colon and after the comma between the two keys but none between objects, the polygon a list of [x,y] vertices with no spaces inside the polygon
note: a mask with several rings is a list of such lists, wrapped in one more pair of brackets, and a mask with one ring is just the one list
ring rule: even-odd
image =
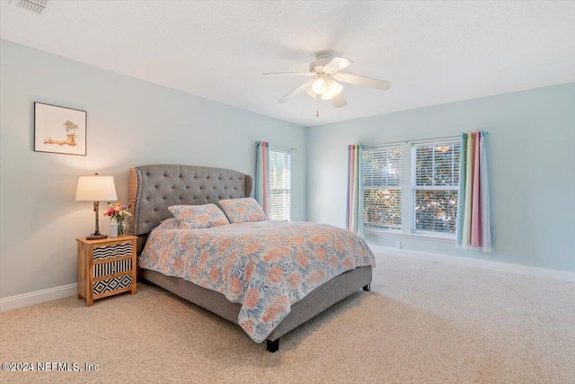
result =
[{"label": "white textured ceiling around the fan", "polygon": [[[41,15],[0,0],[0,37],[314,126],[575,81],[574,1],[49,0]],[[314,53],[392,83],[345,85],[335,109],[300,94]]]}]

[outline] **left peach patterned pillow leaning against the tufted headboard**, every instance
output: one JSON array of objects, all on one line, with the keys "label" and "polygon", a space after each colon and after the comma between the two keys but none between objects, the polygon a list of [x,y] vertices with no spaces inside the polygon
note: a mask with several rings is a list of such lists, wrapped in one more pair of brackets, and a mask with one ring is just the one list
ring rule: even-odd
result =
[{"label": "left peach patterned pillow leaning against the tufted headboard", "polygon": [[173,205],[168,207],[180,229],[210,228],[229,224],[216,204]]}]

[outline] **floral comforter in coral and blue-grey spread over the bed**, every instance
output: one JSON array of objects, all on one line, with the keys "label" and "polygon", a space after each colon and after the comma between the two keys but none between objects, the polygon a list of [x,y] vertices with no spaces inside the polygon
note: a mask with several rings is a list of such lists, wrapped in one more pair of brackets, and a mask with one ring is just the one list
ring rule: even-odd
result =
[{"label": "floral comforter in coral and blue-grey spread over the bed", "polygon": [[348,230],[272,220],[179,229],[167,219],[150,233],[139,262],[242,304],[238,323],[256,343],[288,316],[291,304],[367,265],[375,267],[373,253]]}]

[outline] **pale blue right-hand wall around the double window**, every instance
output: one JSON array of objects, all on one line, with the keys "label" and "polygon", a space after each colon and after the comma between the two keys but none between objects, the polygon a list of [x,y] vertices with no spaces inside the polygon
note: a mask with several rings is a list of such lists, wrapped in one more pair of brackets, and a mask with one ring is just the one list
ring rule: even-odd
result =
[{"label": "pale blue right-hand wall around the double window", "polygon": [[[391,91],[390,91],[391,92]],[[345,227],[347,146],[487,130],[494,252],[367,234],[367,241],[575,272],[575,84],[308,129],[308,219]]]}]

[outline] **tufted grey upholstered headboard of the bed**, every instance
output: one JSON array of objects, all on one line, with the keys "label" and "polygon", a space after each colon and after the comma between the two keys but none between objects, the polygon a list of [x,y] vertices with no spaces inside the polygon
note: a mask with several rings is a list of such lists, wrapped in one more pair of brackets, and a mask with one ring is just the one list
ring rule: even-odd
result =
[{"label": "tufted grey upholstered headboard of the bed", "polygon": [[223,168],[193,165],[143,165],[129,169],[128,209],[131,233],[147,235],[172,218],[171,205],[217,203],[249,197],[252,176]]}]

